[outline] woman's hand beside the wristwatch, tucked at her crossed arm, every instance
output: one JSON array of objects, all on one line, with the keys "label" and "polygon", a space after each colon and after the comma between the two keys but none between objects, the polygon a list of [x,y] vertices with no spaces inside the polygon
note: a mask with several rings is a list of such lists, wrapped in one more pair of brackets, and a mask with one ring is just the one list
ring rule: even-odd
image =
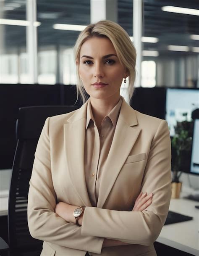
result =
[{"label": "woman's hand beside the wristwatch, tucked at her crossed arm", "polygon": [[78,206],[74,206],[68,203],[59,202],[55,206],[55,213],[58,214],[62,219],[65,219],[67,222],[75,223],[75,217],[73,216],[73,211]]}]

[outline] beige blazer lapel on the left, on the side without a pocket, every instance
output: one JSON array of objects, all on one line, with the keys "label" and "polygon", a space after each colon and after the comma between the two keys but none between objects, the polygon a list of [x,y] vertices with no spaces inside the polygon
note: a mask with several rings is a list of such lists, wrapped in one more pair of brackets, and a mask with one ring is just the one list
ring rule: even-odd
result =
[{"label": "beige blazer lapel on the left, on the side without a pocket", "polygon": [[64,124],[64,145],[68,172],[84,206],[92,206],[84,175],[84,139],[87,102]]}]

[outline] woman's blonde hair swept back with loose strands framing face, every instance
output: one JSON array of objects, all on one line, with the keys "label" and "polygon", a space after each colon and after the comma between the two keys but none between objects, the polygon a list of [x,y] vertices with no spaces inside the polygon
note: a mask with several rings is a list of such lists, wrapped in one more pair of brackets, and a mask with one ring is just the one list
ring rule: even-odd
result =
[{"label": "woman's blonde hair swept back with loose strands framing face", "polygon": [[108,20],[98,21],[95,24],[89,24],[79,34],[76,41],[74,46],[74,56],[75,61],[78,63],[76,66],[77,97],[80,94],[83,103],[85,103],[87,100],[84,86],[79,77],[79,60],[81,46],[91,37],[106,37],[112,42],[120,63],[122,63],[123,66],[125,66],[128,70],[128,98],[130,100],[134,92],[134,81],[136,76],[136,49],[134,48],[134,45],[132,44],[127,32],[120,25]]}]

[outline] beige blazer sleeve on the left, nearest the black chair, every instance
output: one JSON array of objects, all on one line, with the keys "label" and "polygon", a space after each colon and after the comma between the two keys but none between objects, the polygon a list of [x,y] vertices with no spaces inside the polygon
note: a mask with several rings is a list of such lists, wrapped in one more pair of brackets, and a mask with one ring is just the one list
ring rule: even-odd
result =
[{"label": "beige blazer sleeve on the left, nearest the black chair", "polygon": [[100,253],[104,238],[81,234],[81,227],[54,212],[56,193],[50,161],[48,117],[39,137],[28,195],[28,225],[33,238],[77,250]]}]

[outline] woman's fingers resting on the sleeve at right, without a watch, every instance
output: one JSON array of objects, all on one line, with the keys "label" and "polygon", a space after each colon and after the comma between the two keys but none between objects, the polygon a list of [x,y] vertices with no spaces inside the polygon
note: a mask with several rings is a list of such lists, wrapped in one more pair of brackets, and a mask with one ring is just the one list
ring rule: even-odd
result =
[{"label": "woman's fingers resting on the sleeve at right, without a watch", "polygon": [[153,193],[147,195],[141,192],[137,197],[132,211],[144,211],[152,203]]}]

